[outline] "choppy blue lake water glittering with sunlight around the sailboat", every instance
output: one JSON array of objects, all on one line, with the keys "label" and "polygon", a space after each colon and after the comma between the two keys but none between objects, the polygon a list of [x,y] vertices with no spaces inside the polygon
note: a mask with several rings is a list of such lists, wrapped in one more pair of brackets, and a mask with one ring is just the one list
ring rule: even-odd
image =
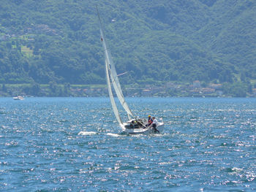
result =
[{"label": "choppy blue lake water glittering with sunlight around the sailboat", "polygon": [[256,99],[127,102],[164,134],[121,133],[108,98],[0,98],[0,191],[256,190]]}]

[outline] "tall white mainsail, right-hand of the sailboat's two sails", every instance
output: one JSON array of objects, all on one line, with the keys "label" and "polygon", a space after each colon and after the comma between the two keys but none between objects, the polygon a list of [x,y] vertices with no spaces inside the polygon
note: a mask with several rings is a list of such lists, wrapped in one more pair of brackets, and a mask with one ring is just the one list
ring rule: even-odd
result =
[{"label": "tall white mainsail, right-hand of the sailboat's two sails", "polygon": [[[97,12],[98,12],[98,10],[97,10]],[[98,17],[99,17],[99,12],[98,12]],[[124,107],[124,110],[127,112],[128,118],[130,119],[130,116],[134,117],[134,115],[132,114],[131,110],[129,110],[127,102],[125,101],[124,95],[121,91],[121,86],[120,86],[120,83],[118,80],[118,76],[116,74],[116,68],[115,68],[115,65],[113,64],[112,56],[111,56],[110,50],[108,48],[108,43],[106,42],[106,38],[105,38],[105,34],[103,31],[103,26],[102,26],[102,22],[101,22],[100,18],[99,18],[99,22],[100,22],[101,41],[102,41],[102,46],[104,48],[106,64],[108,64],[108,72],[109,72],[109,76],[111,78],[111,83],[116,92],[116,96],[118,97],[118,100],[120,101],[122,107]]]}]

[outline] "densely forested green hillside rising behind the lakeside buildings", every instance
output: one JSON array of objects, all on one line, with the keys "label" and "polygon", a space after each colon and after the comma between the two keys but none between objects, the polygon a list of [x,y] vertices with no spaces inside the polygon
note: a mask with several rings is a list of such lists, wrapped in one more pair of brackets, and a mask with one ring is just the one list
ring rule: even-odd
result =
[{"label": "densely forested green hillside rising behind the lakeside buildings", "polygon": [[255,86],[254,0],[1,0],[1,87],[105,84],[96,6],[122,84]]}]

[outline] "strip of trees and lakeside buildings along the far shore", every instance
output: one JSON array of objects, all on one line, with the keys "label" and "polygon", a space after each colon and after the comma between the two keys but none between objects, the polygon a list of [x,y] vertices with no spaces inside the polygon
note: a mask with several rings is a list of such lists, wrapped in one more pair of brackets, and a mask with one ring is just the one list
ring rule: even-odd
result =
[{"label": "strip of trees and lakeside buildings along the far shore", "polygon": [[[254,87],[254,86],[253,86]],[[196,80],[192,83],[165,82],[161,85],[124,85],[124,96],[178,96],[178,97],[256,97],[256,88],[248,82],[210,83]],[[0,84],[0,97],[6,96],[108,96],[107,85],[70,85],[24,83]]]}]

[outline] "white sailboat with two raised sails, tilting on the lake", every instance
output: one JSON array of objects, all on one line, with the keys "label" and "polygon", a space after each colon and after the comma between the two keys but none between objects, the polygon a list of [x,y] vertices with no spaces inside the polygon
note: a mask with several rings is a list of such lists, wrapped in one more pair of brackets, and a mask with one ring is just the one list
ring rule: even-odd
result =
[{"label": "white sailboat with two raised sails, tilting on the lake", "polygon": [[[97,7],[96,7],[97,9]],[[124,95],[121,91],[121,85],[118,80],[118,75],[116,73],[116,67],[113,63],[113,59],[110,53],[110,49],[108,47],[108,42],[105,37],[105,31],[102,25],[102,20],[99,16],[99,11],[97,9],[99,23],[100,23],[100,36],[101,36],[101,42],[102,47],[104,49],[105,53],[105,72],[106,72],[106,79],[107,79],[107,85],[108,85],[108,95],[110,97],[110,102],[113,108],[113,112],[116,116],[116,120],[118,121],[119,126],[121,127],[122,131],[126,132],[127,134],[149,134],[156,132],[156,129],[153,128],[153,126],[147,126],[148,120],[145,118],[137,118],[132,111],[129,109],[127,102],[124,99]],[[116,106],[116,101],[113,96],[112,92],[113,90],[116,93],[116,96],[118,100],[121,103],[121,106],[124,108],[124,110],[127,112],[128,121],[123,122],[121,120],[121,116],[118,112],[118,108]],[[164,129],[164,123],[159,122],[157,125],[157,133],[162,132]]]}]

